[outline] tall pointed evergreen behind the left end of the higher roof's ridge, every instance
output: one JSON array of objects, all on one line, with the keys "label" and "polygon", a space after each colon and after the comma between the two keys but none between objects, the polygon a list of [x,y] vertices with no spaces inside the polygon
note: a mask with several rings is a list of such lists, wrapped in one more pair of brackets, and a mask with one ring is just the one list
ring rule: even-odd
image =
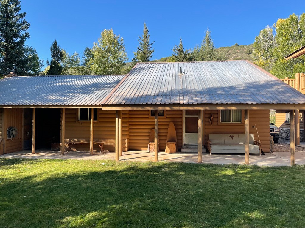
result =
[{"label": "tall pointed evergreen behind the left end of the higher roof's ridge", "polygon": [[152,57],[153,52],[155,51],[154,49],[152,49],[152,44],[155,43],[155,41],[149,43],[148,28],[145,22],[143,35],[142,37],[139,36],[139,39],[139,47],[137,52],[135,53],[135,58],[138,60],[138,62],[148,63]]}]

